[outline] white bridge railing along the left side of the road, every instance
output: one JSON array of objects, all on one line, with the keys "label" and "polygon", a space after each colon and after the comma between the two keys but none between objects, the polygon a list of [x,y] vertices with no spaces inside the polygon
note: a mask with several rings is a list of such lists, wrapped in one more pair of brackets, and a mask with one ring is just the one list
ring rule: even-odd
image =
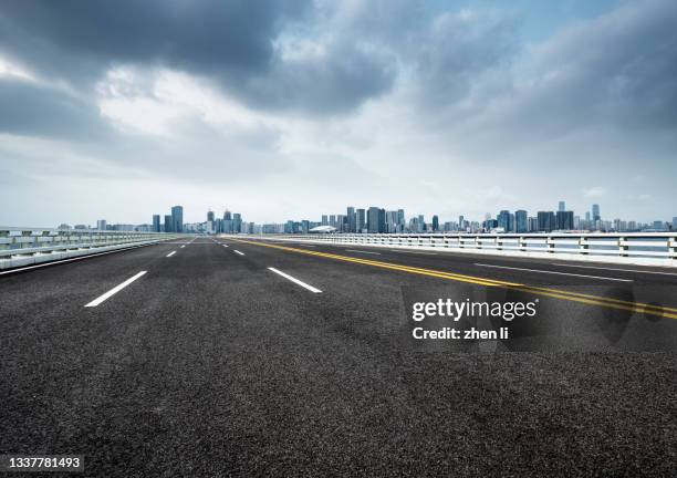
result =
[{"label": "white bridge railing along the left side of the road", "polygon": [[177,237],[166,232],[0,227],[0,270],[148,246]]}]

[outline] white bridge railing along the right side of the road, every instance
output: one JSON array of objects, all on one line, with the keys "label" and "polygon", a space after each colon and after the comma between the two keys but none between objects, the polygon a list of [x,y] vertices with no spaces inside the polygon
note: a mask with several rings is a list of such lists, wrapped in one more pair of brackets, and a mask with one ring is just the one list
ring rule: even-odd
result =
[{"label": "white bridge railing along the right side of the road", "polygon": [[677,267],[677,232],[313,233],[237,237]]}]

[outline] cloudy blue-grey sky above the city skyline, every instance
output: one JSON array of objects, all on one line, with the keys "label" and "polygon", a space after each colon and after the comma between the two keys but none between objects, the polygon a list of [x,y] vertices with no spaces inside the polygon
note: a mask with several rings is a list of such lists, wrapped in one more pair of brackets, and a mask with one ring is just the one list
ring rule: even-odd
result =
[{"label": "cloudy blue-grey sky above the city skyline", "polygon": [[677,216],[677,2],[0,2],[0,225]]}]

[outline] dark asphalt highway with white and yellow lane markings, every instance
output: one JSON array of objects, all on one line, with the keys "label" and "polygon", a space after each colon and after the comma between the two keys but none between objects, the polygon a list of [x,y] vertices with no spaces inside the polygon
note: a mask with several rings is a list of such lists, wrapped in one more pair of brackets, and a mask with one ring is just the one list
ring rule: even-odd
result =
[{"label": "dark asphalt highway with white and yellow lane markings", "polygon": [[[403,337],[458,287],[548,333]],[[0,318],[1,453],[86,476],[677,476],[674,269],[198,237],[2,274]]]}]

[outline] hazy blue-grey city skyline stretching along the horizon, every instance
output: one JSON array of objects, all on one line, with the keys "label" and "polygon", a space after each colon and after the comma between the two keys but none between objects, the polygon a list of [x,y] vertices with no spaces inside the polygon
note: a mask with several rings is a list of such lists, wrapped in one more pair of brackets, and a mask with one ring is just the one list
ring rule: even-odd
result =
[{"label": "hazy blue-grey city skyline stretching along the horizon", "polygon": [[[94,229],[86,225],[61,225],[61,229]],[[184,222],[184,207],[174,206],[170,214],[153,216],[153,224],[145,225],[110,225],[105,219],[96,221],[96,230],[119,230],[139,232],[191,232],[191,233],[433,233],[433,232],[553,232],[553,231],[601,231],[601,232],[666,232],[677,231],[677,217],[671,222],[656,220],[650,224],[626,221],[623,219],[605,220],[602,218],[600,205],[594,204],[584,217],[576,216],[566,209],[566,204],[560,201],[558,210],[537,211],[529,215],[527,210],[513,211],[503,209],[496,218],[487,212],[483,221],[472,221],[459,216],[458,221],[440,222],[434,215],[426,221],[424,215],[406,218],[404,209],[386,210],[381,207],[369,208],[347,207],[345,214],[322,215],[319,221],[288,220],[282,224],[257,225],[247,222],[239,212],[228,209],[222,218],[217,218],[212,210],[207,211],[204,222]]]}]

